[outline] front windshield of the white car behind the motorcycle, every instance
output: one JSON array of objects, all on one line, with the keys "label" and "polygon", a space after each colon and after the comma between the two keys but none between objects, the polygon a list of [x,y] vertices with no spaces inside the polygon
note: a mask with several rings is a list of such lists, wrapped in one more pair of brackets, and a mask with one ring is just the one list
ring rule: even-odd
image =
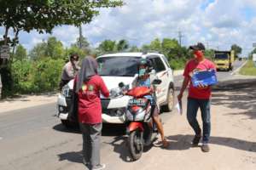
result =
[{"label": "front windshield of the white car behind the motorcycle", "polygon": [[98,74],[109,77],[134,77],[140,57],[102,57],[98,62]]}]

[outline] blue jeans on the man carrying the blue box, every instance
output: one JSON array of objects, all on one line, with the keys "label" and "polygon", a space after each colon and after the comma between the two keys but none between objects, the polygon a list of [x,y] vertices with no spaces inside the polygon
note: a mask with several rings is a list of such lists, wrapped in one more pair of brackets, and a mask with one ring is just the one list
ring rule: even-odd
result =
[{"label": "blue jeans on the man carrying the blue box", "polygon": [[198,108],[201,110],[201,119],[203,122],[203,144],[207,144],[209,142],[211,133],[210,105],[210,99],[188,98],[187,119],[196,135],[201,135],[201,128],[196,120]]}]

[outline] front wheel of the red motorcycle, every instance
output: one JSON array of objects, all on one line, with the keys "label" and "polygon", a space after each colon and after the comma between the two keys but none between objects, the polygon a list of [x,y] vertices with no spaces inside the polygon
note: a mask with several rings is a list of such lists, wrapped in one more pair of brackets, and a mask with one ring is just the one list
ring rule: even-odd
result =
[{"label": "front wheel of the red motorcycle", "polygon": [[139,129],[130,133],[128,146],[132,161],[137,161],[143,155],[143,132]]}]

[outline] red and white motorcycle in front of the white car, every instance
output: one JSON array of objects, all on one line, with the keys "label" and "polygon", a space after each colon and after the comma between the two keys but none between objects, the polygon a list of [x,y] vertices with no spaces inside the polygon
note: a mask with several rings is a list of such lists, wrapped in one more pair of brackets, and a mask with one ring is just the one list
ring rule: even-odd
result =
[{"label": "red and white motorcycle in front of the white car", "polygon": [[[152,82],[153,86],[160,83],[159,79]],[[119,88],[123,87],[124,84],[120,82]],[[125,121],[128,135],[127,144],[133,161],[137,161],[142,156],[144,146],[151,145],[158,133],[151,116],[150,100],[145,98],[146,95],[153,93],[154,90],[147,87],[131,88],[125,93],[125,95],[131,96],[125,112]]]}]

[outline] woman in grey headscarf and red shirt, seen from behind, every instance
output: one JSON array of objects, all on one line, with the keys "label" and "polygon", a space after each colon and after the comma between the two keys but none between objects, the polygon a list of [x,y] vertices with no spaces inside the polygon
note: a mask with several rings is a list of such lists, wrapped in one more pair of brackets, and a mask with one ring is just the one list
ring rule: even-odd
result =
[{"label": "woman in grey headscarf and red shirt, seen from behind", "polygon": [[102,105],[100,94],[109,96],[108,88],[97,75],[97,63],[93,57],[83,59],[79,75],[75,78],[75,93],[79,98],[79,125],[83,134],[84,165],[93,170],[104,169],[100,160],[102,132]]}]

